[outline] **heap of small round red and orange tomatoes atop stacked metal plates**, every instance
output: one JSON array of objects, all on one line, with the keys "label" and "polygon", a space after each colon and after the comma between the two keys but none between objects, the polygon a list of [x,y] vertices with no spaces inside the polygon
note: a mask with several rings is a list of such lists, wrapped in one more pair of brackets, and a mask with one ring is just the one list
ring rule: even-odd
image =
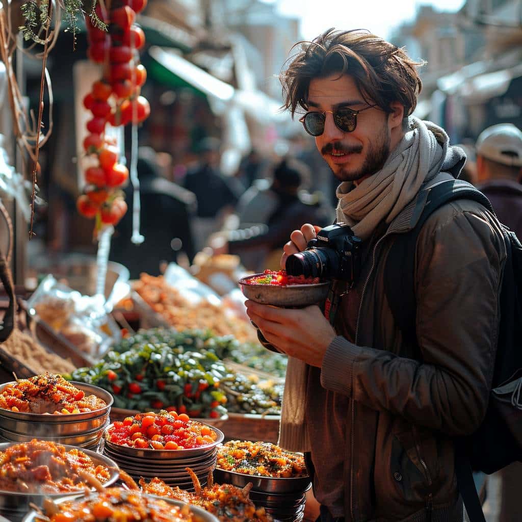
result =
[{"label": "heap of small round red and orange tomatoes atop stacked metal plates", "polygon": [[120,446],[152,449],[189,449],[212,444],[217,433],[186,413],[161,410],[137,413],[123,422],[114,422],[106,437]]}]

